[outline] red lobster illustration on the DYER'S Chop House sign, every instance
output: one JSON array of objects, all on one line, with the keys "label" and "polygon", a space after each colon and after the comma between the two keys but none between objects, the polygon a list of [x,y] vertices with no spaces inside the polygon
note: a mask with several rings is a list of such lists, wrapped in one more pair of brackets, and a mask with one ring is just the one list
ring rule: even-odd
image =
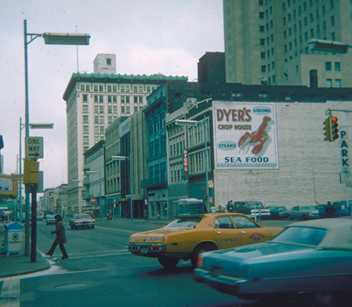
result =
[{"label": "red lobster illustration on the DYER'S Chop House sign", "polygon": [[[248,150],[250,150],[250,146],[254,146],[254,148],[252,149],[252,153],[254,155],[259,154],[259,152],[261,152],[261,150],[263,149],[265,141],[269,139],[265,128],[267,128],[267,123],[271,120],[272,119],[269,116],[264,116],[263,122],[261,123],[261,126],[259,126],[258,130],[254,131],[253,133],[246,132],[245,135],[243,135],[241,139],[239,139],[239,148],[243,150],[247,148],[248,152]],[[259,144],[256,144],[258,142]]]}]

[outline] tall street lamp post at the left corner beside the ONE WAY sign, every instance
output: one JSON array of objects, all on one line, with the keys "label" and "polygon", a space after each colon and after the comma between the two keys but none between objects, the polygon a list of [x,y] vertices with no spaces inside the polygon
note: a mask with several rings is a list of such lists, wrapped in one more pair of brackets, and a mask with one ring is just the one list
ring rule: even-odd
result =
[{"label": "tall street lamp post at the left corner beside the ONE WAY sign", "polygon": [[[69,33],[28,33],[27,21],[23,21],[24,33],[24,53],[25,53],[25,137],[30,136],[30,113],[28,99],[28,45],[36,38],[43,37],[45,44],[50,45],[89,45],[89,34],[69,34]],[[28,41],[28,37],[30,40]],[[26,155],[27,156],[27,155]],[[33,185],[32,190],[32,244],[31,262],[36,262],[36,189]],[[30,225],[30,194],[25,194],[25,255],[29,255],[29,225]]]}]

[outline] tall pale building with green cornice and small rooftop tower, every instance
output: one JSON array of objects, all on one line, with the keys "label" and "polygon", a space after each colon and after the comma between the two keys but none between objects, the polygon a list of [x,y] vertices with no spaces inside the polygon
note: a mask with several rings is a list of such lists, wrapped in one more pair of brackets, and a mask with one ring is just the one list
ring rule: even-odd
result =
[{"label": "tall pale building with green cornice and small rooftop tower", "polygon": [[120,116],[131,116],[146,105],[146,97],[160,84],[187,77],[115,74],[111,54],[98,54],[94,73],[73,73],[63,99],[67,113],[67,168],[70,212],[82,212],[84,204],[84,156],[105,138],[105,128]]}]

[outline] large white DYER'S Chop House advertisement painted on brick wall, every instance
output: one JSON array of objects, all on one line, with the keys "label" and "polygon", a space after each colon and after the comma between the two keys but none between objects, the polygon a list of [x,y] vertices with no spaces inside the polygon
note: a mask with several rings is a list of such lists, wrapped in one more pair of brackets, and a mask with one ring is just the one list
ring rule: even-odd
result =
[{"label": "large white DYER'S Chop House advertisement painted on brick wall", "polygon": [[275,104],[213,102],[215,168],[276,169]]}]

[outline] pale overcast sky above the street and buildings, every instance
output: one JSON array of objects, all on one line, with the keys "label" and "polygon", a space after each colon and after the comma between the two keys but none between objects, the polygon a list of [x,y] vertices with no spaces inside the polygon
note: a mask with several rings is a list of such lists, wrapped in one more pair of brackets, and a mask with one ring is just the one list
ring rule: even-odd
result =
[{"label": "pale overcast sky above the street and buildings", "polygon": [[[206,52],[223,52],[221,0],[0,0],[0,135],[5,174],[17,172],[19,119],[25,122],[23,21],[28,33],[89,33],[89,46],[28,45],[30,130],[44,137],[44,187],[67,183],[66,105],[72,73],[93,72],[97,54],[116,54],[117,73],[197,79]],[[25,129],[22,130],[25,136]],[[24,139],[23,153],[24,157]]]}]

